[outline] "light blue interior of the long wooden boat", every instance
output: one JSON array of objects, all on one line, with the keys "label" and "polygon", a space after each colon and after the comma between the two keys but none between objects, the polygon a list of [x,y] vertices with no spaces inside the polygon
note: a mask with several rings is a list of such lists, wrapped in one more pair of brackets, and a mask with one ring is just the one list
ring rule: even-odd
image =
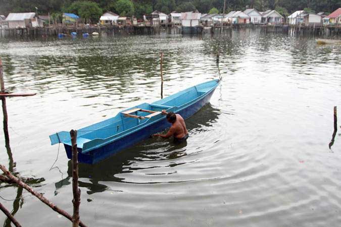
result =
[{"label": "light blue interior of the long wooden boat", "polygon": [[[217,84],[216,80],[199,84],[170,95],[166,98],[160,99],[153,103],[142,103],[130,109],[121,111],[115,117],[93,124],[91,126],[78,130],[77,145],[82,148],[82,145],[94,139],[107,139],[118,135],[124,131],[134,130],[136,126],[144,124],[151,119],[161,118],[161,111],[172,111],[174,108],[189,104],[210,91]],[[66,135],[58,134],[60,138],[65,138]],[[61,140],[64,143],[68,141]]]}]

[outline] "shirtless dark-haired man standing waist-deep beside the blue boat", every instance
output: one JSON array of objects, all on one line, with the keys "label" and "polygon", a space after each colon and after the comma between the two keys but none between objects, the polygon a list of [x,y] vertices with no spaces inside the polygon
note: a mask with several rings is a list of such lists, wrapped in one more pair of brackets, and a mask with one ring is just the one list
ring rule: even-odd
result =
[{"label": "shirtless dark-haired man standing waist-deep beside the blue boat", "polygon": [[185,141],[188,138],[188,132],[183,118],[180,115],[175,114],[174,112],[166,112],[165,110],[162,110],[161,113],[163,115],[167,115],[167,121],[171,123],[172,126],[170,127],[167,134],[154,134],[153,136],[160,136],[163,138],[174,136],[174,140],[176,142]]}]

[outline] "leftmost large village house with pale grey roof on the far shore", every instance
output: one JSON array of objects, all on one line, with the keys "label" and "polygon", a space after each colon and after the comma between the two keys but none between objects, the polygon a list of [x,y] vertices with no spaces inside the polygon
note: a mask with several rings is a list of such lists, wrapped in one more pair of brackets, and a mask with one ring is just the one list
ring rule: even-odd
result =
[{"label": "leftmost large village house with pale grey roof on the far shore", "polygon": [[9,28],[43,27],[43,21],[39,20],[35,13],[10,13],[5,22]]}]

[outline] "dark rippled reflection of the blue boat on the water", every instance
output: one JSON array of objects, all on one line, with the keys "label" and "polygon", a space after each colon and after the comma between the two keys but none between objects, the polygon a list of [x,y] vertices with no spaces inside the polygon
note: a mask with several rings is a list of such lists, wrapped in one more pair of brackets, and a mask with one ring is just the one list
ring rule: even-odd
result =
[{"label": "dark rippled reflection of the blue boat on the water", "polygon": [[[205,105],[199,112],[186,120],[186,126],[189,137],[197,134],[213,130],[213,123],[218,119],[220,110],[212,107],[209,103]],[[79,186],[88,189],[87,193],[103,192],[107,186],[103,182],[126,182],[125,178],[121,178],[120,174],[129,174],[143,169],[154,169],[160,167],[154,165],[153,161],[160,163],[163,168],[169,168],[168,173],[154,173],[145,175],[169,175],[172,174],[170,167],[187,163],[181,160],[182,157],[188,155],[186,153],[185,143],[174,143],[170,139],[151,138],[142,141],[135,146],[128,148],[100,163],[88,165],[79,163],[79,178],[87,179],[88,182],[79,180]],[[174,162],[175,159],[177,162]],[[137,163],[141,163],[140,165]],[[72,177],[72,161],[68,162],[68,176]],[[56,189],[66,184],[70,184],[69,178],[55,184]],[[67,182],[65,184],[65,182]],[[101,183],[99,183],[101,182]],[[148,182],[146,182],[148,183]]]}]

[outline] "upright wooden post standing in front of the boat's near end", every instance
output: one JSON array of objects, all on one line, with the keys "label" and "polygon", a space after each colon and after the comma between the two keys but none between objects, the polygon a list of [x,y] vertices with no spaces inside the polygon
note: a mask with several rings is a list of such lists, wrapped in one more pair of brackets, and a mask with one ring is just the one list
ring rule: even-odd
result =
[{"label": "upright wooden post standing in front of the boat's near end", "polygon": [[71,136],[71,144],[72,144],[72,191],[73,191],[72,227],[78,227],[78,224],[79,224],[80,189],[78,188],[77,131],[71,130],[70,136]]}]

